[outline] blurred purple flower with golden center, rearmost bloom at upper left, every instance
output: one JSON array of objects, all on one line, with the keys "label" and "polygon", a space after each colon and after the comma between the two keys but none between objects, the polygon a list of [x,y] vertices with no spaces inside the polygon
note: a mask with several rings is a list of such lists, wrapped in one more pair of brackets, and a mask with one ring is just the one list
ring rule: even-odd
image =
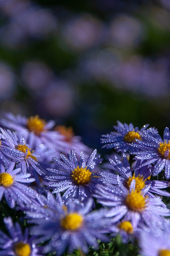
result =
[{"label": "blurred purple flower with golden center, rearmost bloom at upper left", "polygon": [[[38,115],[26,118],[25,116],[14,116],[12,113],[6,113],[5,118],[0,120],[0,124],[4,128],[22,132],[28,144],[32,145],[33,150],[43,146],[48,148],[58,146],[59,148],[58,138],[60,138],[60,134],[51,130],[55,125],[53,120],[46,122]],[[57,152],[60,151],[56,150],[56,154]]]}]

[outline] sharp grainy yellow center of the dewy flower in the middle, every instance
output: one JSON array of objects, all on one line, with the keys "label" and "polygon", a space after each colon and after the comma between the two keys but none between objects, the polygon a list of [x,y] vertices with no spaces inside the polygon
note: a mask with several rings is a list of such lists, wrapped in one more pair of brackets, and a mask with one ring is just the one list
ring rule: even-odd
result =
[{"label": "sharp grainy yellow center of the dewy flower in the middle", "polygon": [[72,178],[76,184],[84,185],[91,180],[91,174],[92,172],[90,172],[87,167],[79,168],[79,166],[77,166],[77,168],[72,171]]}]

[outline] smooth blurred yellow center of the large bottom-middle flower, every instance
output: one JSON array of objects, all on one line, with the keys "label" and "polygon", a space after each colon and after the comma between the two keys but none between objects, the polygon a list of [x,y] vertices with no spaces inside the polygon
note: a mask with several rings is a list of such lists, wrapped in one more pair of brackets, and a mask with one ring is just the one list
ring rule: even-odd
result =
[{"label": "smooth blurred yellow center of the large bottom-middle flower", "polygon": [[61,220],[60,224],[64,229],[78,230],[83,224],[83,217],[76,212],[70,213],[70,214],[67,214]]}]

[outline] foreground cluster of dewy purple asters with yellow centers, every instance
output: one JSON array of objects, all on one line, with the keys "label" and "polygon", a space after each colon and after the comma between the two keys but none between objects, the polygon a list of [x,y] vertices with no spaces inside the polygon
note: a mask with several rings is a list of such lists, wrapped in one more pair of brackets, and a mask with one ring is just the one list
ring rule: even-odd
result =
[{"label": "foreground cluster of dewy purple asters with yellow centers", "polygon": [[118,235],[144,256],[170,255],[168,128],[162,139],[148,124],[118,122],[102,135],[119,153],[105,168],[54,121],[8,113],[0,126],[0,205],[22,213],[18,222],[4,215],[0,255],[83,255]]}]

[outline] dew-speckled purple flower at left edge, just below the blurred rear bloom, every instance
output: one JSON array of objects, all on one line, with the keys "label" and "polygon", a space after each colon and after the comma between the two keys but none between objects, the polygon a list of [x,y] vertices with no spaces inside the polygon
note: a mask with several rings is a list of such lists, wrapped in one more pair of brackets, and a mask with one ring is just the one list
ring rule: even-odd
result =
[{"label": "dew-speckled purple flower at left edge, just below the blurred rear bloom", "polygon": [[34,151],[26,144],[25,138],[22,134],[17,132],[10,132],[0,128],[1,144],[0,151],[4,154],[2,161],[6,162],[6,158],[18,164],[23,173],[31,173],[34,176],[35,172],[42,175],[45,173],[43,168],[36,161]]}]

